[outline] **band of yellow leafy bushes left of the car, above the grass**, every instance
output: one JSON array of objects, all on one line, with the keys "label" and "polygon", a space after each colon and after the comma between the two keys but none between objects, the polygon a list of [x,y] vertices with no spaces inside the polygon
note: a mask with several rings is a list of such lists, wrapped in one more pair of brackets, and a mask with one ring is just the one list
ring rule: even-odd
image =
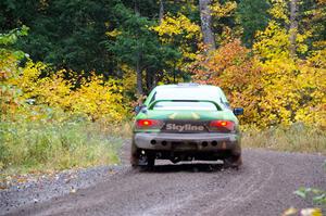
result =
[{"label": "band of yellow leafy bushes left of the car, above the grass", "polygon": [[[103,81],[102,76],[92,74],[88,78],[79,78],[79,87],[74,89],[73,80],[64,77],[66,71],[52,73],[48,77],[41,77],[41,72],[47,68],[43,63],[29,61],[24,68],[13,67],[21,72],[18,76],[11,76],[4,80],[8,86],[14,86],[22,93],[17,97],[20,106],[28,107],[27,113],[38,113],[39,105],[51,109],[61,109],[70,114],[86,115],[92,120],[105,118],[111,122],[121,122],[126,116],[123,105],[123,87],[120,80],[109,79]],[[70,72],[71,76],[74,73]],[[12,97],[12,96],[11,96]],[[26,101],[33,100],[34,105],[24,106]],[[1,106],[3,106],[1,101]],[[9,107],[11,112],[14,111]],[[23,111],[24,112],[24,111]],[[30,114],[35,117],[42,115]]]}]

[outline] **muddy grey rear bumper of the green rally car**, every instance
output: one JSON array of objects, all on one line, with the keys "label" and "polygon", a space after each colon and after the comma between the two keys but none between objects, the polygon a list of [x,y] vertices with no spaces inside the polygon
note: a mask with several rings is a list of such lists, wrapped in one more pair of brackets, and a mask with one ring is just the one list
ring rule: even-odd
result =
[{"label": "muddy grey rear bumper of the green rally car", "polygon": [[139,149],[160,151],[241,151],[240,136],[237,134],[137,132],[134,136],[134,143]]}]

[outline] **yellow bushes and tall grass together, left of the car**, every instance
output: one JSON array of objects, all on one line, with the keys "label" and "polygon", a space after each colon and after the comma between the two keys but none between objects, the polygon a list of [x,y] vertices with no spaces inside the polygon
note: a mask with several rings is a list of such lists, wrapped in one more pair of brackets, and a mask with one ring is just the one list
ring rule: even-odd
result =
[{"label": "yellow bushes and tall grass together, left of the car", "polygon": [[74,72],[34,63],[11,49],[27,30],[0,35],[0,180],[30,171],[118,164],[130,130],[124,124],[129,102],[122,93],[123,81],[75,78]]}]

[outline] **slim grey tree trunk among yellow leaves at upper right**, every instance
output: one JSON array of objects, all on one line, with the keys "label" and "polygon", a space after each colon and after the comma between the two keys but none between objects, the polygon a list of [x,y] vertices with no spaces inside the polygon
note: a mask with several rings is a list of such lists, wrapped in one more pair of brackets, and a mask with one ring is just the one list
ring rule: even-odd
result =
[{"label": "slim grey tree trunk among yellow leaves at upper right", "polygon": [[296,56],[297,50],[297,34],[298,34],[298,0],[291,0],[290,2],[290,55]]}]

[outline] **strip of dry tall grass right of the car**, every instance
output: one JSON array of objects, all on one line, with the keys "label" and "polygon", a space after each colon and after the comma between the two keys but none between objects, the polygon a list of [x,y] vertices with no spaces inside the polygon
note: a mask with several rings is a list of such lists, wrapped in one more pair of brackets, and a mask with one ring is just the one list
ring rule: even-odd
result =
[{"label": "strip of dry tall grass right of the car", "polygon": [[242,136],[242,147],[326,155],[326,132],[302,124],[273,127],[262,131],[248,129]]}]

